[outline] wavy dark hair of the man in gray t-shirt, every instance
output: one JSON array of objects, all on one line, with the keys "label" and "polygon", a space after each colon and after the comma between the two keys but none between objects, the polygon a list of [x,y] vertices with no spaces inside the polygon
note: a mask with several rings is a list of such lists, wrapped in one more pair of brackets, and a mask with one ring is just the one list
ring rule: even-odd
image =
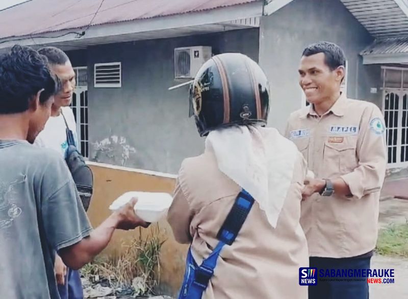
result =
[{"label": "wavy dark hair of the man in gray t-shirt", "polygon": [[45,56],[20,45],[0,56],[0,114],[26,111],[41,89],[41,104],[55,94],[58,84],[47,63]]}]

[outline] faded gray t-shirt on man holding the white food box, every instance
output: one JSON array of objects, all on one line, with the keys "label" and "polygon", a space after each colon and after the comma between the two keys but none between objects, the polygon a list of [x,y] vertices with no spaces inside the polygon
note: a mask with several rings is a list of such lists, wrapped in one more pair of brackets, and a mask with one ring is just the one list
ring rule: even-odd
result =
[{"label": "faded gray t-shirt on man holding the white food box", "polygon": [[55,252],[91,229],[57,152],[0,140],[0,298],[59,298]]}]

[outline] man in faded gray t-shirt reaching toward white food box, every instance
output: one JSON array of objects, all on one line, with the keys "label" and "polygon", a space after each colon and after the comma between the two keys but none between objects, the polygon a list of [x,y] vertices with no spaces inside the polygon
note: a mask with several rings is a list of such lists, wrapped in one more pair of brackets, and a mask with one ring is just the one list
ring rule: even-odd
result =
[{"label": "man in faded gray t-shirt reaching toward white food box", "polygon": [[32,145],[57,81],[29,47],[0,56],[0,298],[58,299],[55,254],[72,269],[91,261],[116,228],[148,224],[136,200],[92,229],[65,161]]}]

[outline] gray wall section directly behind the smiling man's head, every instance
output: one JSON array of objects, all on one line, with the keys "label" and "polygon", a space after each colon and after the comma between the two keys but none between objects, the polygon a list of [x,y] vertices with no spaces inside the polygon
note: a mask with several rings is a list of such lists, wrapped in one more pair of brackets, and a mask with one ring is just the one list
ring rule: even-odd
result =
[{"label": "gray wall section directly behind the smiling man's head", "polygon": [[347,96],[378,103],[370,87],[378,85],[378,75],[362,65],[359,56],[372,37],[339,0],[294,0],[261,19],[260,65],[272,90],[269,125],[285,128],[290,112],[301,107],[298,65],[308,44],[335,42],[348,59]]}]

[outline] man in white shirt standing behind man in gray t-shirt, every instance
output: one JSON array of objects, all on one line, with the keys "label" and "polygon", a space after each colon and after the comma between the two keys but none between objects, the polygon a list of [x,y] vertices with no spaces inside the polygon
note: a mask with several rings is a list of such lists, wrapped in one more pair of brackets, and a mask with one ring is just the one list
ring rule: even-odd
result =
[{"label": "man in white shirt standing behind man in gray t-shirt", "polygon": [[[65,121],[73,132],[75,144],[78,146],[77,126],[69,107],[75,88],[75,72],[68,56],[62,50],[55,47],[45,47],[38,52],[48,58],[50,71],[60,79],[61,89],[54,97],[52,117],[45,124],[44,130],[37,136],[35,145],[54,149],[65,159],[68,149]],[[79,271],[68,269],[59,256],[56,256],[55,260],[55,274],[61,299],[83,298]]]}]

